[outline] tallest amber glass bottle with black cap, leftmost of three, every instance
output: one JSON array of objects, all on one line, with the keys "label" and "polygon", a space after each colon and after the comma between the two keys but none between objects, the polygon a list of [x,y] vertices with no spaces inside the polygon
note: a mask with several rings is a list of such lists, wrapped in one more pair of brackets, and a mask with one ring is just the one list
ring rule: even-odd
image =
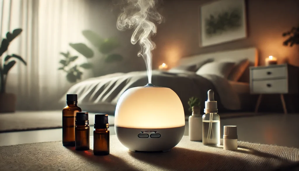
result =
[{"label": "tallest amber glass bottle with black cap, leftmost of three", "polygon": [[77,106],[77,94],[67,94],[65,108],[62,110],[62,145],[75,146],[76,113],[81,112]]}]

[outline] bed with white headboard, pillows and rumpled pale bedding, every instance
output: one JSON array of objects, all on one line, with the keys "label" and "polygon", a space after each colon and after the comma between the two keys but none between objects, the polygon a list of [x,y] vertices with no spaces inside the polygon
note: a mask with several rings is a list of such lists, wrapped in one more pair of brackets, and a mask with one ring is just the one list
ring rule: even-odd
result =
[{"label": "bed with white headboard, pillows and rumpled pale bedding", "polygon": [[[169,71],[153,70],[152,84],[175,91],[186,115],[190,114],[188,99],[198,97],[204,108],[210,89],[215,92],[219,111],[240,111],[248,108],[248,67],[256,66],[257,59],[256,48],[183,57],[178,66]],[[124,91],[147,83],[146,71],[113,73],[79,82],[66,94],[78,94],[78,104],[84,111],[114,114],[118,99]],[[61,101],[65,102],[65,96]]]}]

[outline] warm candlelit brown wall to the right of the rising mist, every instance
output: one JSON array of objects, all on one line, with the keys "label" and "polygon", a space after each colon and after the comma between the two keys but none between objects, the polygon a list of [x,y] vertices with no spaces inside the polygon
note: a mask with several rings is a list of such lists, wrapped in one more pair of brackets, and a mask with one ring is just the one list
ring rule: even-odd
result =
[{"label": "warm candlelit brown wall to the right of the rising mist", "polygon": [[265,57],[273,55],[279,63],[289,60],[299,66],[299,46],[282,46],[285,38],[281,36],[292,26],[299,25],[298,0],[248,0],[248,38],[200,48],[198,7],[207,2],[164,0],[165,22],[158,25],[153,39],[157,45],[153,51],[154,66],[162,62],[173,66],[183,56],[251,46],[259,49],[261,65]]}]

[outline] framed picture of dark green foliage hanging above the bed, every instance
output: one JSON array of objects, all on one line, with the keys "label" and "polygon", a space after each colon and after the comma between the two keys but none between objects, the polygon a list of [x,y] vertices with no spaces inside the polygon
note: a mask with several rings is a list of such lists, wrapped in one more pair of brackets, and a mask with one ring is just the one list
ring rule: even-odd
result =
[{"label": "framed picture of dark green foliage hanging above the bed", "polygon": [[199,46],[247,37],[245,0],[218,0],[199,6]]}]

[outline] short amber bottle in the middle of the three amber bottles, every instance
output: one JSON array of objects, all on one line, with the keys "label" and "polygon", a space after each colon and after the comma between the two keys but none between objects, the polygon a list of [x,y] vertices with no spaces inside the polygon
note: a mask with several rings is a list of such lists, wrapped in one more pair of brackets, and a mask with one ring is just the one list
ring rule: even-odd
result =
[{"label": "short amber bottle in the middle of the three amber bottles", "polygon": [[75,128],[75,149],[89,150],[88,112],[77,112]]}]

